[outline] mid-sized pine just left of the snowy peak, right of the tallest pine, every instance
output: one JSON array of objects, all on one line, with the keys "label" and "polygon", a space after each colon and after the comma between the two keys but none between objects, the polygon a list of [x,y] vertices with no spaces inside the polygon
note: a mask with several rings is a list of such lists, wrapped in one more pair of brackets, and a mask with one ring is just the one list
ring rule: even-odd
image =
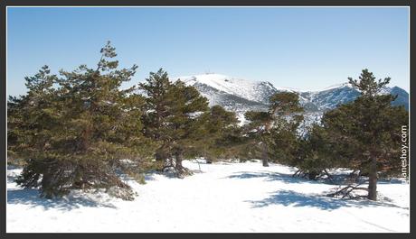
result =
[{"label": "mid-sized pine just left of the snowy peak, right of the tallest pine", "polygon": [[178,176],[188,173],[182,161],[187,154],[200,152],[197,143],[203,136],[208,100],[181,80],[171,83],[163,69],[151,72],[139,87],[147,97],[145,133],[160,144],[156,159],[165,162],[163,169],[175,167]]}]

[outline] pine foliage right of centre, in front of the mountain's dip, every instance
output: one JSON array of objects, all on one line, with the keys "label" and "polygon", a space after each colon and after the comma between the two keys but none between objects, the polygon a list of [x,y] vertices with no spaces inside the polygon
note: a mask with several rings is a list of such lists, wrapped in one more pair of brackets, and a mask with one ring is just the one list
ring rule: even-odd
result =
[{"label": "pine foliage right of centre, in front of the mountain's dip", "polygon": [[279,92],[269,98],[267,112],[248,111],[244,115],[250,124],[246,125],[247,140],[251,152],[248,155],[259,157],[263,166],[269,160],[292,161],[297,148],[297,129],[303,120],[298,94]]}]

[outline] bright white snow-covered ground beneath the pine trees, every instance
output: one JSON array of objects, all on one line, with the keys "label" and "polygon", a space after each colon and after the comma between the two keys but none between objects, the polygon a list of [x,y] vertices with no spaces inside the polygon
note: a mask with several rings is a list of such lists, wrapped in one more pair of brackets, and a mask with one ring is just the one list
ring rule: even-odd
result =
[{"label": "bright white snow-covered ground beneath the pine trees", "polygon": [[134,201],[106,194],[71,193],[38,198],[18,188],[19,169],[7,171],[7,233],[410,232],[410,186],[381,182],[382,202],[326,198],[334,185],[291,178],[293,169],[260,162],[184,166],[199,170],[184,179],[159,174],[147,184],[131,181]]}]

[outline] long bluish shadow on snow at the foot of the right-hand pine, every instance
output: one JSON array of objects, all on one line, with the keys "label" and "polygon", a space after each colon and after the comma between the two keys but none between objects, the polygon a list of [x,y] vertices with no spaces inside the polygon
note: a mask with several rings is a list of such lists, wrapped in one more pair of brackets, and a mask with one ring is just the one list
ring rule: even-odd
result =
[{"label": "long bluish shadow on snow at the foot of the right-hand pine", "polygon": [[[307,195],[292,190],[279,190],[272,193],[269,198],[246,201],[252,207],[269,207],[283,205],[285,207],[316,207],[322,210],[335,210],[340,207],[399,207],[388,202],[374,202],[368,199],[340,199],[328,198],[319,195]],[[409,209],[409,207],[400,207]]]}]

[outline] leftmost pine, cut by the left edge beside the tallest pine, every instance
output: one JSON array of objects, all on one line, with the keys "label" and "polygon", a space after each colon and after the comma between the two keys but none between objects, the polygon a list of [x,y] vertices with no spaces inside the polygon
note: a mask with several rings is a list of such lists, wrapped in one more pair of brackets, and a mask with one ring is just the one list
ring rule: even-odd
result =
[{"label": "leftmost pine, cut by the left edge beside the tallest pine", "polygon": [[[43,66],[33,77],[26,77],[27,95],[9,99],[8,154],[24,159],[27,164],[18,182],[24,187],[42,187],[42,196],[52,197],[53,187],[59,182],[52,179],[61,173],[61,161],[56,159],[57,142],[53,136],[61,130],[61,115],[57,90],[52,86],[57,76]],[[56,167],[56,170],[51,170]]]}]

